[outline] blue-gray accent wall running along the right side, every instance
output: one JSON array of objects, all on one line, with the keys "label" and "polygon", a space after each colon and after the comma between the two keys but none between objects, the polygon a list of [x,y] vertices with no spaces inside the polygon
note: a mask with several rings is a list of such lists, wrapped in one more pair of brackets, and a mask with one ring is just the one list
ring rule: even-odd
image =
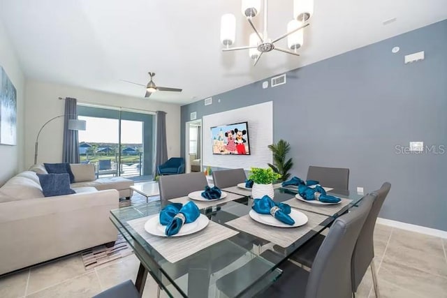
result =
[{"label": "blue-gray accent wall running along the right side", "polygon": [[[425,60],[404,64],[419,51]],[[390,181],[381,217],[447,231],[447,20],[291,70],[279,87],[262,82],[182,106],[182,154],[191,112],[200,119],[273,100],[274,141],[291,143],[293,174],[349,167],[349,187],[365,192]],[[432,151],[400,154],[410,141]]]}]

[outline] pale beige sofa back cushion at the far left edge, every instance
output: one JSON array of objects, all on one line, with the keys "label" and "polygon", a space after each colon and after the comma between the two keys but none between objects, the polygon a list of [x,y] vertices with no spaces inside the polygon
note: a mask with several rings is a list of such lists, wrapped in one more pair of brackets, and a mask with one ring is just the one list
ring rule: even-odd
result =
[{"label": "pale beige sofa back cushion at the far left edge", "polygon": [[[21,172],[6,181],[6,184],[1,186],[0,193],[10,198],[10,200],[27,200],[44,197],[38,177],[35,172],[31,171]],[[1,200],[4,199],[5,197]]]}]

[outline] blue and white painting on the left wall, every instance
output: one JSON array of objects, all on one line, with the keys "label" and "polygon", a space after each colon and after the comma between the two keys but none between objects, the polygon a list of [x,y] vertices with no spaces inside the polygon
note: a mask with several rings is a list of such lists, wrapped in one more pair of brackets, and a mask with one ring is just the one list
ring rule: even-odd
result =
[{"label": "blue and white painting on the left wall", "polygon": [[0,144],[17,144],[17,91],[0,66]]}]

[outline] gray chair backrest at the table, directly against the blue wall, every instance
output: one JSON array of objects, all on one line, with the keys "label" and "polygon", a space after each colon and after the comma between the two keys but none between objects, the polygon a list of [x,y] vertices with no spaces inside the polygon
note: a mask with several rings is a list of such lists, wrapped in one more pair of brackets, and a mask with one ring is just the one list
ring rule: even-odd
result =
[{"label": "gray chair backrest at the table, directly against the blue wall", "polygon": [[320,181],[321,186],[349,189],[349,169],[344,167],[316,167],[309,165],[307,179]]}]

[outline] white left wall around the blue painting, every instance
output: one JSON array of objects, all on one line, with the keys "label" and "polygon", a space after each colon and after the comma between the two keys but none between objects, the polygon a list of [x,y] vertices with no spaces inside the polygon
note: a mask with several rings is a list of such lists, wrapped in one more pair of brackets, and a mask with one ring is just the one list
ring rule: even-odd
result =
[{"label": "white left wall around the blue painting", "polygon": [[17,90],[17,146],[0,144],[0,185],[24,167],[24,75],[0,20],[0,66]]}]

